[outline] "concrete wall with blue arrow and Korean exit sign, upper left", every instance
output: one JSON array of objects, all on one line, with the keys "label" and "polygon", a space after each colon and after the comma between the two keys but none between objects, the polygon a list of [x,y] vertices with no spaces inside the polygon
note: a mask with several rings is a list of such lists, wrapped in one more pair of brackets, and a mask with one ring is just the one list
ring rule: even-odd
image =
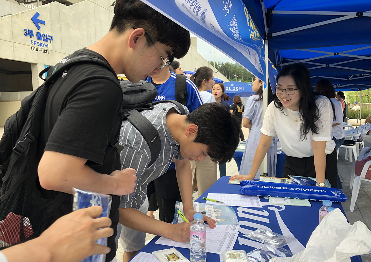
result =
[{"label": "concrete wall with blue arrow and Korean exit sign, upper left", "polygon": [[[114,15],[110,2],[86,0],[71,6],[53,2],[29,9],[12,0],[0,0],[0,16],[12,14],[0,18],[0,27],[3,29],[0,31],[0,58],[30,63],[32,89],[35,90],[42,84],[38,74],[45,65],[58,63],[63,57],[97,42],[108,33]],[[45,25],[39,24],[40,29],[31,20],[36,12],[40,14],[38,19],[45,21]],[[33,30],[34,36],[24,36],[24,29]],[[47,42],[48,47],[37,46],[37,42],[46,44],[43,40],[37,40],[38,31],[53,36],[51,43],[50,40]],[[20,100],[29,93],[1,92],[0,126],[19,109]]]}]

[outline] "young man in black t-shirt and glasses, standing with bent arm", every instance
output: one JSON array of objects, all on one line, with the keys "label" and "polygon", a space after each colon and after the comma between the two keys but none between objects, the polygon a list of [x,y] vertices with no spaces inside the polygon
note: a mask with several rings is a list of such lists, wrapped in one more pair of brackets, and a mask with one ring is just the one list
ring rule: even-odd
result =
[{"label": "young man in black t-shirt and glasses, standing with bent arm", "polygon": [[[189,32],[141,1],[117,0],[114,12],[106,36],[60,63],[95,56],[116,74],[138,83],[168,58],[188,52]],[[133,192],[136,180],[134,169],[121,170],[116,148],[109,144],[111,134],[119,135],[119,128],[113,128],[121,107],[122,90],[115,74],[97,64],[71,66],[50,86],[40,135],[38,174],[45,198],[71,194],[72,187],[112,195],[115,233],[108,238],[108,262],[116,253],[119,196]],[[72,211],[72,195],[66,196],[49,225]]]}]

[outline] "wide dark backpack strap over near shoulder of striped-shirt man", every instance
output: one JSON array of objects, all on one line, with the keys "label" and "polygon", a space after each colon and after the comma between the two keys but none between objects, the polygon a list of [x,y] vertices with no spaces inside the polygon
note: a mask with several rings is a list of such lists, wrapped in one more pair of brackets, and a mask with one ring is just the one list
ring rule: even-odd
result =
[{"label": "wide dark backpack strap over near shoulder of striped-shirt man", "polygon": [[125,112],[123,117],[128,119],[129,122],[141,133],[144,140],[147,142],[151,151],[151,160],[148,166],[151,166],[160,155],[161,151],[161,139],[158,135],[157,130],[152,125],[151,121],[147,117],[143,116],[138,110],[133,109],[129,112]]}]

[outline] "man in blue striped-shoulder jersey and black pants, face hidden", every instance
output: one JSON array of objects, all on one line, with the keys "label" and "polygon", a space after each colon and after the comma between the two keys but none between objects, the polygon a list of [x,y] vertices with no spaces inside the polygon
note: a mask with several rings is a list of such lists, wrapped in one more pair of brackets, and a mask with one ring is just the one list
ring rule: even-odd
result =
[{"label": "man in blue striped-shoulder jersey and black pants, face hidden", "polygon": [[[179,66],[180,65],[178,65],[178,67]],[[169,66],[152,72],[150,77],[147,78],[147,81],[152,83],[157,89],[158,95],[155,101],[168,99],[176,100],[175,77],[176,74],[170,71]],[[188,110],[192,112],[198,106],[202,105],[203,101],[195,84],[189,79],[185,81],[187,84],[186,106]],[[175,202],[181,201],[174,163],[171,163],[164,175],[153,181],[153,185],[155,193],[152,193],[150,197],[149,210],[156,210],[153,206],[153,200],[156,198],[160,220],[171,223],[174,218]]]}]

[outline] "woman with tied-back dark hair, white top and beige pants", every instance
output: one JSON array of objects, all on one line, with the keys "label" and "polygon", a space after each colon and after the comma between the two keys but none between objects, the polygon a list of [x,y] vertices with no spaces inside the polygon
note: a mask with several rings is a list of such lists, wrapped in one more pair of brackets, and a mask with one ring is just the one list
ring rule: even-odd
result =
[{"label": "woman with tied-back dark hair, white top and beige pants", "polygon": [[[202,66],[191,76],[191,80],[200,91],[204,103],[215,102],[214,96],[207,92],[214,84],[213,70],[207,66]],[[202,195],[217,179],[217,166],[210,157],[206,157],[203,162],[191,161],[193,189],[197,188],[198,196]]]}]

